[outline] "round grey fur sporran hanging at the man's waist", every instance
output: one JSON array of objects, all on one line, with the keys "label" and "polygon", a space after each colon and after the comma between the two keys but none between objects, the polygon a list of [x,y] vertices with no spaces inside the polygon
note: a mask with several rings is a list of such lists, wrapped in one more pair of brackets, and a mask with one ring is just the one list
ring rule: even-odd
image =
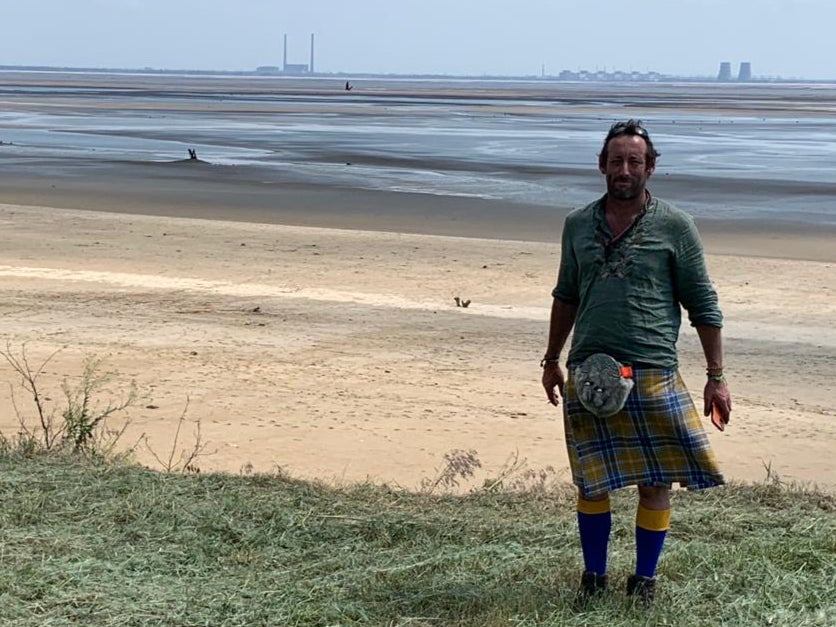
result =
[{"label": "round grey fur sporran hanging at the man's waist", "polygon": [[604,353],[584,359],[574,377],[581,405],[599,418],[620,412],[634,385],[632,378],[624,376],[622,365]]}]

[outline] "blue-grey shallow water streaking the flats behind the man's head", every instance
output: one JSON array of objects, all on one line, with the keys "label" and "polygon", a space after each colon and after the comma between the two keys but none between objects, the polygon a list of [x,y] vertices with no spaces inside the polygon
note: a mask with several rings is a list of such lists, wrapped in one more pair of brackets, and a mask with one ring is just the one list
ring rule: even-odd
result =
[{"label": "blue-grey shallow water streaking the flats behind the man's head", "polygon": [[[104,86],[75,91],[0,85],[7,99],[0,113],[3,167],[171,161],[194,148],[203,160],[286,180],[566,207],[602,192],[596,160],[609,124],[640,117],[662,152],[654,193],[701,217],[836,224],[836,116],[810,114],[802,104],[794,115],[793,98],[809,95],[801,88],[763,89],[782,110],[755,116],[729,109],[728,94],[722,109],[671,112],[665,106],[682,107],[684,96],[652,84],[642,87],[644,105],[619,102],[595,86],[579,106],[527,97],[525,83],[491,82],[501,95],[485,99],[387,97],[403,82],[378,81],[374,95],[352,92],[335,102],[319,93],[194,86],[133,93],[97,80]],[[427,85],[450,88],[425,82],[422,89]],[[485,83],[466,85],[474,86]],[[694,93],[705,98],[707,89]],[[742,94],[741,106],[752,97]],[[265,103],[285,110],[264,110]],[[250,104],[252,110],[240,110]]]}]

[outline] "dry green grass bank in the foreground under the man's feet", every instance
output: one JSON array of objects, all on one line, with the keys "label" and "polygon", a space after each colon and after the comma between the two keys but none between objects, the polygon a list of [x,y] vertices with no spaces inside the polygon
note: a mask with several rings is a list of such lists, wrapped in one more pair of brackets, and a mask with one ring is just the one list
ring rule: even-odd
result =
[{"label": "dry green grass bank in the foreground under the man's feet", "polygon": [[2,625],[836,624],[836,499],[777,480],[675,494],[650,609],[621,592],[635,497],[614,495],[613,591],[584,612],[568,486],[416,494],[7,447],[0,498]]}]

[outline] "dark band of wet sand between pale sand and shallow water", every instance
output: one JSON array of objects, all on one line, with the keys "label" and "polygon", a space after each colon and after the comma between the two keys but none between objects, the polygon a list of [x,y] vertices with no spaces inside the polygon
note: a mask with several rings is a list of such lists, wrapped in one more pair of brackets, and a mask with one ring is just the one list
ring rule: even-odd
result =
[{"label": "dark band of wet sand between pale sand and shallow water", "polygon": [[[200,162],[62,164],[65,177],[0,170],[0,202],[161,217],[233,220],[425,235],[558,243],[572,209],[480,198],[350,189],[287,182],[280,174]],[[727,184],[728,182],[724,182]],[[651,189],[674,204],[697,183]],[[590,196],[594,198],[594,196]],[[779,220],[698,219],[718,254],[836,261],[836,227]]]}]

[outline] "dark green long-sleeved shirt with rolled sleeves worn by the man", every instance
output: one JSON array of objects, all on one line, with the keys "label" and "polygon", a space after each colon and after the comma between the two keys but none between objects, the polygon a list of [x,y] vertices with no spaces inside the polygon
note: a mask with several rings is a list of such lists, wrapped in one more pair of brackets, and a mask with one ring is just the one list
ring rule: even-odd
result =
[{"label": "dark green long-sleeved shirt with rolled sleeves worn by the man", "polygon": [[606,196],[563,227],[555,298],[578,308],[569,361],[606,353],[623,363],[676,368],[684,307],[692,326],[723,326],[699,233],[688,214],[651,198],[612,241]]}]

